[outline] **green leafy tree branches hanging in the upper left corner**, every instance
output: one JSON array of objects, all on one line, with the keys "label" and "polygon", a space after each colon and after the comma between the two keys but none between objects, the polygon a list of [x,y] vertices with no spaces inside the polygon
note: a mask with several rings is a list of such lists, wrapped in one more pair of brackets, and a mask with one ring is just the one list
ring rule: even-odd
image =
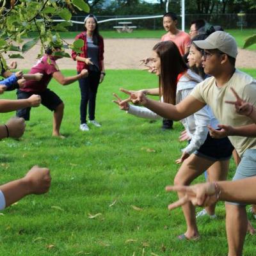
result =
[{"label": "green leafy tree branches hanging in the upper left corner", "polygon": [[[6,67],[4,52],[8,52],[9,58],[22,58],[22,53],[39,43],[41,50],[37,57],[40,58],[45,47],[62,47],[65,41],[58,32],[68,31],[68,26],[72,26],[72,13],[77,10],[88,13],[90,7],[83,0],[0,0],[0,58],[3,66]],[[65,21],[55,23],[53,17]],[[23,38],[31,32],[35,37],[24,43]],[[81,47],[77,42],[66,46],[77,52]]]}]

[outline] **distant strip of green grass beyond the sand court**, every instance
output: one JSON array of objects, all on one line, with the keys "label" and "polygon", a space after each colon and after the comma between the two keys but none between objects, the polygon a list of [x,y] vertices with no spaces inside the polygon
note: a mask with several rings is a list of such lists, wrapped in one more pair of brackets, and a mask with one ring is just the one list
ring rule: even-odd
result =
[{"label": "distant strip of green grass beyond the sand court", "polygon": [[[187,31],[188,32],[188,31]],[[244,40],[256,33],[255,29],[227,29],[227,32],[236,38],[237,45],[242,48]],[[63,38],[75,38],[79,32],[60,32]],[[132,33],[117,33],[116,31],[100,31],[104,38],[161,38],[164,30],[134,30]],[[249,50],[256,50],[256,44],[248,47]]]}]

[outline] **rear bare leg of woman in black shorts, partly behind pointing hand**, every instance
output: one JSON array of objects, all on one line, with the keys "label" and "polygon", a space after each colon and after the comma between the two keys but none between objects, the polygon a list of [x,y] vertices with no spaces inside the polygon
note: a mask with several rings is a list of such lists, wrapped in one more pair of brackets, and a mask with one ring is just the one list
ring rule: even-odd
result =
[{"label": "rear bare leg of woman in black shorts, partly behind pointing hand", "polygon": [[[207,181],[214,182],[218,180],[227,180],[228,167],[229,167],[229,160],[215,162],[207,170],[209,174]],[[214,215],[215,207],[216,207],[216,204],[212,204],[211,206],[205,207],[205,210],[209,215]]]}]

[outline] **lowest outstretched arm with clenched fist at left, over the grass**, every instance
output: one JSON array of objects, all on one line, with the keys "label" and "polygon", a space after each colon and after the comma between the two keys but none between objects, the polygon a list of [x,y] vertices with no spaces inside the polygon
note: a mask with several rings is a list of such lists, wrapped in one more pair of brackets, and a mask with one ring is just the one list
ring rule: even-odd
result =
[{"label": "lowest outstretched arm with clenched fist at left, over the grass", "polygon": [[50,186],[50,171],[47,168],[34,166],[24,178],[0,186],[1,209],[19,201],[26,195],[46,193]]}]

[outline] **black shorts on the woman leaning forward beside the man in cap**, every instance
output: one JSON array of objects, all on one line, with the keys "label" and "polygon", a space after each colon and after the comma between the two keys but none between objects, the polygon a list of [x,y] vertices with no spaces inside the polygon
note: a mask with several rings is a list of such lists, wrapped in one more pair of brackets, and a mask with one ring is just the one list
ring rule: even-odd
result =
[{"label": "black shorts on the woman leaning forward beside the man in cap", "polygon": [[227,137],[223,139],[211,138],[209,132],[204,144],[194,152],[196,156],[204,157],[213,161],[224,161],[230,159],[233,145]]}]

